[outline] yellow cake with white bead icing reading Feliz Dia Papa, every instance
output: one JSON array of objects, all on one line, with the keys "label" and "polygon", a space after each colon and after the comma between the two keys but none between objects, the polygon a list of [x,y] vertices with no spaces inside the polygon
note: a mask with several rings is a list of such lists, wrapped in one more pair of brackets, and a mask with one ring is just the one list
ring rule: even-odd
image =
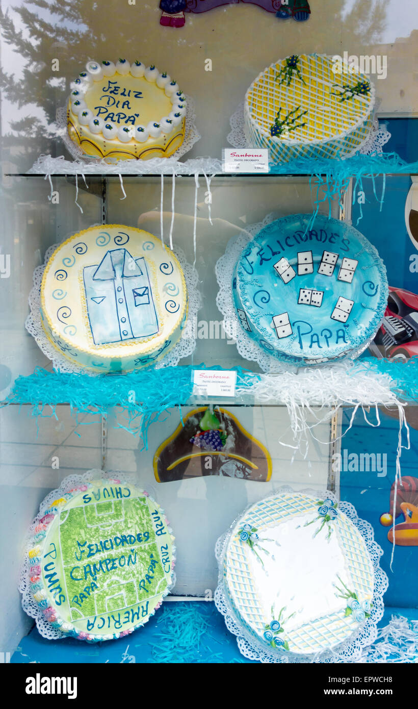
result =
[{"label": "yellow cake with white bead icing reading Feliz Dia Papa", "polygon": [[72,82],[69,136],[93,157],[169,157],[183,143],[186,104],[176,80],[154,65],[87,62]]}]

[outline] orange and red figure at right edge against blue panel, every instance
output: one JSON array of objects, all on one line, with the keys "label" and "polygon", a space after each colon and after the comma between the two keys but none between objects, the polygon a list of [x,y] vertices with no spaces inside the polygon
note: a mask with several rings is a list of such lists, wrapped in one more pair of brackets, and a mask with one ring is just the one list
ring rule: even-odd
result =
[{"label": "orange and red figure at right edge against blue panel", "polygon": [[[393,503],[396,504],[395,512]],[[405,521],[393,525],[393,514],[395,519],[404,515]],[[395,490],[395,483],[390,488],[390,512],[380,516],[380,524],[389,527],[388,540],[399,547],[418,547],[418,478],[406,475],[400,479],[400,483]]]}]

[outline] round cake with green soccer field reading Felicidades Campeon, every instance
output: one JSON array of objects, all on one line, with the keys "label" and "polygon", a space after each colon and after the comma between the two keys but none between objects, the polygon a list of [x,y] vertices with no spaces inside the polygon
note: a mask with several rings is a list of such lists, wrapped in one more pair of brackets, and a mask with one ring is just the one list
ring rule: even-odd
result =
[{"label": "round cake with green soccer field reading Felicidades Campeon", "polygon": [[127,635],[149,620],[174,582],[174,537],[164,510],[117,479],[60,494],[41,506],[28,545],[38,613],[79,640]]}]

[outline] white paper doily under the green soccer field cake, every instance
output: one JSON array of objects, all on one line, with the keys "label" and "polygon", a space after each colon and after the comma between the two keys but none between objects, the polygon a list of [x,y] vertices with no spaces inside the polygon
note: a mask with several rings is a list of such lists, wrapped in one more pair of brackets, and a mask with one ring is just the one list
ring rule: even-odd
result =
[{"label": "white paper doily under the green soccer field cake", "polygon": [[[20,572],[20,577],[18,581],[18,590],[22,594],[22,608],[27,613],[30,615],[30,618],[33,618],[35,620],[36,626],[38,627],[38,631],[40,632],[40,635],[42,637],[47,638],[47,640],[60,640],[63,637],[69,637],[68,633],[62,632],[62,630],[59,630],[57,627],[53,627],[51,623],[47,621],[45,618],[45,615],[43,613],[43,608],[38,605],[38,603],[35,601],[35,598],[33,598],[33,593],[30,590],[30,571],[29,571],[29,557],[28,557],[28,552],[29,549],[31,549],[34,545],[34,540],[33,537],[35,535],[35,527],[39,524],[39,521],[43,516],[45,515],[46,511],[51,507],[53,501],[61,498],[64,493],[66,493],[68,490],[75,489],[81,485],[84,485],[86,483],[89,483],[93,480],[113,480],[115,478],[120,478],[121,480],[123,479],[124,482],[131,484],[131,485],[137,485],[137,482],[135,481],[135,476],[133,474],[119,474],[118,471],[112,471],[111,473],[106,473],[103,470],[98,470],[98,469],[92,469],[84,473],[83,475],[69,475],[64,480],[62,481],[60,487],[57,490],[52,490],[43,500],[43,502],[40,504],[40,510],[38,515],[36,515],[35,519],[33,520],[33,523],[30,525],[29,530],[28,530],[28,535],[26,537],[26,542],[25,542],[25,548],[24,548],[24,557],[23,557],[23,564],[21,565],[21,572]],[[162,513],[164,514],[164,510],[161,508]],[[172,534],[171,527],[169,526],[169,523],[167,523],[167,528],[169,532]],[[172,547],[172,559],[174,563],[176,562],[176,547],[173,543]],[[173,573],[171,577],[171,584],[167,586],[166,590],[164,591],[164,596],[167,596],[167,594],[171,591],[171,588],[174,588],[176,584],[176,574]],[[154,612],[151,615],[154,615]]]}]

